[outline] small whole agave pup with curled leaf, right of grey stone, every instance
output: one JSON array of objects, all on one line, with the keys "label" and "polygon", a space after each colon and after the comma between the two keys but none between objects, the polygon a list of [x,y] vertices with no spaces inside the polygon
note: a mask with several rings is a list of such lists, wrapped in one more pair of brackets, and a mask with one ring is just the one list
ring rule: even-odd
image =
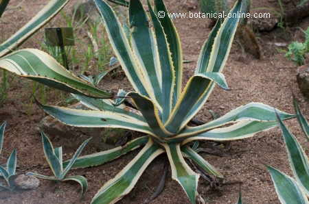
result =
[{"label": "small whole agave pup with curled leaf, right of grey stone", "polygon": [[38,173],[32,173],[32,172],[27,173],[27,175],[32,175],[40,179],[47,179],[52,181],[76,181],[82,187],[82,195],[84,195],[84,192],[86,192],[88,189],[87,179],[80,175],[69,176],[69,177],[66,177],[66,175],[69,172],[69,170],[71,170],[71,167],[76,162],[76,159],[78,158],[80,153],[82,153],[82,149],[84,149],[84,146],[87,145],[87,143],[89,142],[89,140],[91,140],[91,138],[85,140],[80,145],[80,147],[78,147],[76,153],[74,153],[70,162],[68,162],[65,165],[65,168],[63,168],[64,166],[62,162],[62,146],[54,149],[52,142],[49,140],[47,136],[45,136],[43,132],[41,132],[41,136],[43,142],[44,155],[49,164],[49,167],[52,169],[52,172],[54,173],[54,177],[48,177],[45,175],[40,175]]}]

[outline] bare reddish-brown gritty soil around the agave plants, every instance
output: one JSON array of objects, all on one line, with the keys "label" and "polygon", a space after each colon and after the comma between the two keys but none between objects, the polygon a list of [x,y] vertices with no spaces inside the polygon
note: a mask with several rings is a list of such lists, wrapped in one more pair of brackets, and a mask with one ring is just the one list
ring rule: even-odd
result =
[{"label": "bare reddish-brown gritty soil around the agave plants", "polygon": [[[188,6],[189,2],[196,5],[194,1],[166,1],[168,9],[172,12],[198,12],[198,8]],[[17,5],[19,1],[12,0],[11,5]],[[47,0],[25,1],[20,8],[9,10],[3,16],[0,23],[2,38],[7,38],[18,27],[28,21],[36,14]],[[76,3],[72,1],[71,5]],[[261,0],[253,3],[253,8],[258,7],[278,8],[276,1]],[[31,9],[29,9],[31,8]],[[67,11],[70,9],[67,8]],[[198,53],[209,34],[209,21],[207,19],[175,19],[183,46],[185,60],[193,60],[193,63],[185,64],[185,81],[193,74]],[[60,17],[55,18],[49,27],[64,25]],[[295,27],[306,29],[309,26],[309,18],[304,19]],[[223,115],[233,108],[249,103],[251,101],[266,103],[280,110],[293,113],[292,94],[293,91],[300,101],[305,116],[309,117],[308,101],[299,93],[296,83],[297,68],[284,58],[272,45],[273,42],[286,42],[302,39],[301,31],[295,27],[276,29],[271,33],[258,34],[264,58],[255,60],[251,55],[242,54],[238,44],[234,43],[229,60],[225,66],[224,74],[231,91],[216,88],[209,97],[205,107],[198,114],[198,119],[211,120],[211,114],[207,110],[213,110]],[[4,32],[5,31],[5,32]],[[286,37],[287,36],[287,37]],[[289,38],[288,38],[289,37]],[[43,30],[28,40],[22,47],[39,48],[38,42],[43,38]],[[123,86],[124,84],[124,86]],[[0,122],[6,120],[8,127],[5,131],[4,149],[1,153],[1,162],[7,158],[12,149],[18,151],[18,173],[36,171],[45,175],[51,175],[47,163],[43,157],[41,139],[37,130],[39,121],[45,116],[36,105],[30,104],[32,83],[25,79],[10,76],[10,91],[3,107],[0,107]],[[111,79],[105,81],[106,88],[117,90],[117,88],[129,88],[126,79]],[[49,104],[59,102],[59,92],[50,92]],[[308,143],[300,131],[296,120],[286,122],[291,131],[306,149],[308,154]],[[64,140],[59,136],[51,136],[55,146],[64,146],[68,157],[75,151],[80,141],[87,138],[82,134]],[[66,141],[66,142],[63,142]],[[71,143],[68,144],[70,141]],[[78,141],[78,142],[76,142]],[[94,153],[95,147],[89,145],[83,154]],[[95,168],[72,170],[70,175],[84,175],[89,181],[89,190],[84,199],[80,200],[80,189],[76,183],[54,183],[41,180],[41,186],[36,190],[18,192],[0,192],[0,203],[89,203],[93,195],[108,179],[115,176],[138,151],[125,155],[114,162]],[[245,203],[279,203],[271,178],[264,164],[275,166],[279,170],[290,175],[290,168],[284,149],[281,133],[278,128],[258,133],[254,138],[231,142],[231,149],[225,151],[223,157],[203,154],[210,164],[213,164],[225,176],[225,185],[218,190],[208,190],[207,182],[200,179],[198,192],[207,203],[236,203],[238,199],[239,184],[233,182],[241,181],[243,200]],[[119,203],[143,203],[159,182],[161,169],[163,168],[164,155],[152,162],[144,175],[139,179],[136,187],[128,196]],[[189,203],[181,187],[172,181],[170,172],[165,183],[163,193],[152,201],[152,203]]]}]

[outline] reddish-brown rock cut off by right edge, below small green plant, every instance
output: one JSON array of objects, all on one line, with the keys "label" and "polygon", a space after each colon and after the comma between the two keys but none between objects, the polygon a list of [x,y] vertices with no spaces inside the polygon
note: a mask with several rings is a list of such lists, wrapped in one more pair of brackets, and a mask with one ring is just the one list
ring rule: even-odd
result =
[{"label": "reddish-brown rock cut off by right edge, below small green plant", "polygon": [[297,69],[297,83],[299,86],[299,90],[304,97],[309,99],[309,65],[300,66]]}]

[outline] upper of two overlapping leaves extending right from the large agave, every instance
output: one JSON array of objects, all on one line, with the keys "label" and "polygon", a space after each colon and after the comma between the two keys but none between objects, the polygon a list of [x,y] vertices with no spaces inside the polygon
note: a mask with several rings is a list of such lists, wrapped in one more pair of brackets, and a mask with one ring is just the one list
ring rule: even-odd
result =
[{"label": "upper of two overlapping leaves extending right from the large agave", "polygon": [[[295,115],[279,110],[277,110],[277,112],[283,120],[295,118]],[[209,123],[205,123],[204,125],[186,127],[177,137],[202,133],[203,131],[227,125],[228,123],[236,123],[240,120],[275,121],[275,110],[273,107],[262,103],[248,103],[247,105],[242,105],[231,112],[228,112],[224,116],[212,120]]]}]

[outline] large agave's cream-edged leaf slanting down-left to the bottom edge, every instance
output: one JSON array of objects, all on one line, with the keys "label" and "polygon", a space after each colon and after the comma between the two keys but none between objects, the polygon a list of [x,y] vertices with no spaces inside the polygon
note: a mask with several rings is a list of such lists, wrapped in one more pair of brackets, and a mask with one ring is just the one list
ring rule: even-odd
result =
[{"label": "large agave's cream-edged leaf slanting down-left to the bottom edge", "polygon": [[126,165],[113,179],[104,184],[95,194],[91,203],[116,203],[122,199],[133,189],[150,162],[163,152],[163,149],[150,139],[134,160]]}]

